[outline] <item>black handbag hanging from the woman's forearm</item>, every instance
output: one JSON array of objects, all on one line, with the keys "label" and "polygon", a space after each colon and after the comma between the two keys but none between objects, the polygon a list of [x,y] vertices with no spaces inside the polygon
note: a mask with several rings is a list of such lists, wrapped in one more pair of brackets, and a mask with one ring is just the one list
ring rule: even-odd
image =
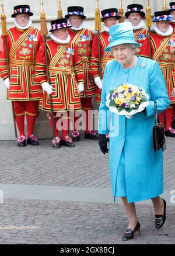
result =
[{"label": "black handbag hanging from the woman's forearm", "polygon": [[162,124],[160,124],[159,116],[157,115],[157,104],[155,102],[155,126],[153,126],[153,145],[156,150],[162,151],[166,150],[166,141],[165,141],[165,130]]}]

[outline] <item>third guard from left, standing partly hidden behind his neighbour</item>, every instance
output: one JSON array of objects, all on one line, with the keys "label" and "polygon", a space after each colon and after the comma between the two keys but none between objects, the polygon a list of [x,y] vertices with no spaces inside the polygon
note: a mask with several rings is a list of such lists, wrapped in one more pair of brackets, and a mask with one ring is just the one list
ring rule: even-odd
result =
[{"label": "third guard from left, standing partly hidden behind his neighbour", "polygon": [[[96,85],[93,81],[93,78],[90,76],[90,53],[92,50],[92,40],[93,33],[89,29],[83,27],[83,19],[86,18],[82,6],[69,6],[68,13],[65,15],[65,18],[69,20],[71,27],[69,28],[69,35],[71,36],[71,41],[73,41],[78,47],[78,55],[81,58],[83,72],[85,74],[84,90],[81,92],[81,103],[82,110],[85,113],[84,124],[85,124],[85,138],[86,139],[97,139],[96,132],[92,129],[91,115],[90,110],[93,109],[92,98],[96,92]],[[78,23],[75,22],[78,20]],[[79,131],[75,123],[78,117],[75,116],[74,119],[74,131],[72,132],[72,140],[79,140]]]}]

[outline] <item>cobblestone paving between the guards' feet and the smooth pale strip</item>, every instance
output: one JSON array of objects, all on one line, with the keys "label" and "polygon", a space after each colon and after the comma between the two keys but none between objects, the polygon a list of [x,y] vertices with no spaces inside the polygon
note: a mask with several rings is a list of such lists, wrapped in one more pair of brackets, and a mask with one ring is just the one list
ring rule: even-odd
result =
[{"label": "cobblestone paving between the guards' feet and the smooth pale strip", "polygon": [[[167,137],[164,151],[164,189],[175,189],[175,139]],[[110,188],[109,154],[100,153],[97,141],[82,140],[75,148],[16,147],[15,141],[0,141],[1,183]]]}]

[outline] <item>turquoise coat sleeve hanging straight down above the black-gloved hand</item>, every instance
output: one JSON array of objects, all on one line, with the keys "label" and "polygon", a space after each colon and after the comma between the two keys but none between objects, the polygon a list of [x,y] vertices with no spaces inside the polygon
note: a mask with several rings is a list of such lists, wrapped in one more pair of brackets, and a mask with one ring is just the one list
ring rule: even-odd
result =
[{"label": "turquoise coat sleeve hanging straight down above the black-gloved hand", "polygon": [[[101,91],[101,103],[99,108],[99,133],[108,134],[111,120],[111,113],[106,106],[106,96],[108,94],[108,75],[107,75],[108,64],[104,70],[103,87]],[[110,74],[109,74],[110,75]]]}]

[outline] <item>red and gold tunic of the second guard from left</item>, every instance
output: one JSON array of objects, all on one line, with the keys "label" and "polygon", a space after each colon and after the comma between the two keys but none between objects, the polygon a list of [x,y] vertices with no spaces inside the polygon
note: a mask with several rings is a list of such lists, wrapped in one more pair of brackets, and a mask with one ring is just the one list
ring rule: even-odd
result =
[{"label": "red and gold tunic of the second guard from left", "polygon": [[[61,44],[50,40],[47,42],[47,55],[50,82],[53,87],[54,112],[80,110],[81,97],[78,83],[84,82],[84,74],[76,45],[72,41]],[[37,78],[41,85],[47,82],[44,45],[37,55]],[[41,96],[40,108],[50,111],[50,98],[45,91]]]}]

